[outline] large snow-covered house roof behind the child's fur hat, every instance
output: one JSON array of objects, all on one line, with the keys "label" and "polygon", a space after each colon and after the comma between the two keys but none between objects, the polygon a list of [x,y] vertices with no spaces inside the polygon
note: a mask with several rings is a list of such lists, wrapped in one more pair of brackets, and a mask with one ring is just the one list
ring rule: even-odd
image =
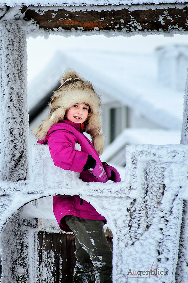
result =
[{"label": "large snow-covered house roof behind the child's fur hat", "polygon": [[167,129],[181,129],[183,91],[159,86],[154,55],[101,51],[59,52],[29,84],[29,109],[57,84],[65,68],[74,68],[93,82],[105,103],[128,105]]}]

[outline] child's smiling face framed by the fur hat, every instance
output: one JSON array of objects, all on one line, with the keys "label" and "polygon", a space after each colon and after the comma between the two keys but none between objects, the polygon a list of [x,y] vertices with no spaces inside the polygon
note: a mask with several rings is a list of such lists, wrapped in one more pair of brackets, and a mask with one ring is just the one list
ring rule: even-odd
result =
[{"label": "child's smiling face framed by the fur hat", "polygon": [[77,103],[66,112],[67,120],[74,123],[83,123],[87,119],[89,106],[84,103]]}]

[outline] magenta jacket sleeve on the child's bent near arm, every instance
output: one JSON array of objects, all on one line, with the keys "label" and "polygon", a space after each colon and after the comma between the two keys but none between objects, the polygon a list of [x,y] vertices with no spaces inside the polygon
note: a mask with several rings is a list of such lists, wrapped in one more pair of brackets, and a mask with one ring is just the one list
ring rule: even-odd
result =
[{"label": "magenta jacket sleeve on the child's bent near arm", "polygon": [[48,137],[51,158],[54,165],[65,170],[82,172],[88,153],[75,149],[76,137],[68,130],[52,132]]}]

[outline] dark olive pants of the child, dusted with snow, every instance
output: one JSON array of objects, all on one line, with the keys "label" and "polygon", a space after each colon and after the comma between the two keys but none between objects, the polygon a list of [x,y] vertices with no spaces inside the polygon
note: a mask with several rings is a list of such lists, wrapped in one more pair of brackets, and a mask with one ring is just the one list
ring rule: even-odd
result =
[{"label": "dark olive pants of the child, dusted with snow", "polygon": [[64,219],[76,243],[74,283],[111,283],[112,250],[104,233],[103,221],[72,215]]}]

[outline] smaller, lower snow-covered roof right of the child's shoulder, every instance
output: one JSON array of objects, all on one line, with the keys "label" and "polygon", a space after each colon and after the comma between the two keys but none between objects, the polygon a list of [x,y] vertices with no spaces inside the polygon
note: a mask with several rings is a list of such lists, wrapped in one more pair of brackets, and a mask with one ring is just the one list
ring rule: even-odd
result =
[{"label": "smaller, lower snow-covered roof right of the child's shoulder", "polygon": [[110,160],[128,144],[179,144],[180,135],[181,131],[175,130],[128,128],[105,148],[101,160]]}]

